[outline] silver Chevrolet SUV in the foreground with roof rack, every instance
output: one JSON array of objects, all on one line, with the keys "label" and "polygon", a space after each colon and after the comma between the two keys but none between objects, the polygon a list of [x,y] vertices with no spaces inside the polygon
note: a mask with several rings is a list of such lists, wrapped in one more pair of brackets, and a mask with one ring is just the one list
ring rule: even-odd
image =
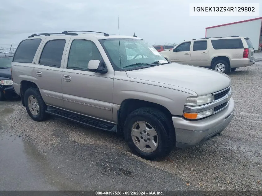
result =
[{"label": "silver Chevrolet SUV in the foreground with roof rack", "polygon": [[227,75],[167,62],[136,36],[91,33],[33,34],[20,42],[13,87],[33,120],[51,114],[123,133],[146,159],[201,144],[230,123]]}]

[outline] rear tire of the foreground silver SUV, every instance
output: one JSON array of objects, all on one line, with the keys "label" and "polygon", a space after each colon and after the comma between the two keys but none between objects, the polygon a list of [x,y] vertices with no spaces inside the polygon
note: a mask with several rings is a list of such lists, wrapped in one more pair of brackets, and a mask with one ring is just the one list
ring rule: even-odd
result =
[{"label": "rear tire of the foreground silver SUV", "polygon": [[[35,107],[34,111],[38,111],[35,114],[33,114],[31,112],[31,110],[29,109],[29,97],[32,99],[33,98],[33,102],[35,103],[31,103],[33,104],[33,107]],[[38,104],[38,107],[37,107]],[[38,88],[36,87],[31,87],[29,89],[27,89],[24,93],[24,105],[26,108],[26,111],[28,113],[28,115],[35,121],[43,121],[47,119],[47,105],[45,104]]]}]

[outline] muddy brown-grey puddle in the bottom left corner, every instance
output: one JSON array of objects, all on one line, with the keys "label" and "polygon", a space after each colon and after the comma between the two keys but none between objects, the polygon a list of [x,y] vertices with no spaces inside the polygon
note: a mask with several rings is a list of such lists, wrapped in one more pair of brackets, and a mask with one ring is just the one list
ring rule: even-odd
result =
[{"label": "muddy brown-grey puddle in the bottom left corner", "polygon": [[[2,108],[1,108],[2,109]],[[7,124],[13,108],[0,109],[0,190],[74,189],[63,174],[50,166],[46,155],[22,137],[12,135]]]}]

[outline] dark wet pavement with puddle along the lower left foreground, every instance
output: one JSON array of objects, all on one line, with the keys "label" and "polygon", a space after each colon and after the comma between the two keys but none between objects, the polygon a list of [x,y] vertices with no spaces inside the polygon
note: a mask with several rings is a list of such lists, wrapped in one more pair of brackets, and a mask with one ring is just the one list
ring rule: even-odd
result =
[{"label": "dark wet pavement with puddle along the lower left foreground", "polygon": [[56,133],[63,145],[40,152],[7,126],[13,108],[20,105],[0,102],[0,190],[192,189],[136,156],[106,146],[70,142],[63,132]]}]

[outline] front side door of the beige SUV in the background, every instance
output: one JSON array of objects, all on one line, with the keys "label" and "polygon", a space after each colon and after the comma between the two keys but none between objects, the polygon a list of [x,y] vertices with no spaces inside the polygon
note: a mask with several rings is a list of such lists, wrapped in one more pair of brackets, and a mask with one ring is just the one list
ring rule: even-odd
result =
[{"label": "front side door of the beige SUV in the background", "polygon": [[170,61],[183,64],[190,64],[190,45],[191,42],[184,42],[170,51]]}]

